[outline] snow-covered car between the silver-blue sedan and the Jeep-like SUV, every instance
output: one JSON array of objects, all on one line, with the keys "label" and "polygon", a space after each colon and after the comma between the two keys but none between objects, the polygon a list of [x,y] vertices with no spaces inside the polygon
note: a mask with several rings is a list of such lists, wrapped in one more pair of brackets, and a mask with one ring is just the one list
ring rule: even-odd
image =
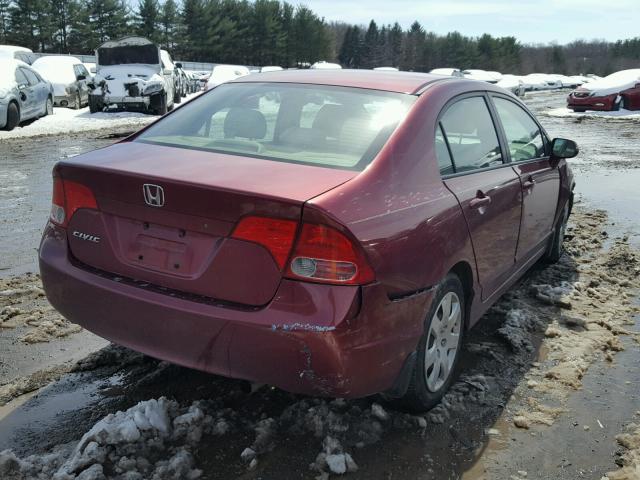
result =
[{"label": "snow-covered car between the silver-blue sedan and the Jeep-like SUV", "polygon": [[33,68],[53,85],[53,104],[82,108],[89,103],[91,74],[76,57],[47,55],[33,62]]}]

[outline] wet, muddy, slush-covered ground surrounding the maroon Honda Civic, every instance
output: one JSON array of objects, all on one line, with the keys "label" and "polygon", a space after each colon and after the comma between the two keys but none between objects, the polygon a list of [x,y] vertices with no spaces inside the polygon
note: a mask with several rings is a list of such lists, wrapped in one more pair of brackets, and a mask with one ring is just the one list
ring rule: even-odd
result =
[{"label": "wet, muddy, slush-covered ground surrounding the maroon Honda Civic", "polygon": [[[543,112],[561,100],[543,94],[528,101]],[[574,167],[582,199],[567,254],[557,265],[536,266],[468,334],[462,375],[431,412],[409,415],[377,397],[294,396],[118,347],[78,363],[32,354],[21,369],[9,367],[43,345],[55,350],[75,338],[87,345],[93,337],[74,333],[48,308],[37,277],[20,275],[0,285],[7,317],[0,325],[10,327],[0,329],[0,404],[8,401],[0,407],[0,451],[11,449],[0,454],[0,478],[57,473],[86,480],[102,472],[123,479],[323,479],[341,471],[376,479],[640,478],[640,221],[633,195],[640,198],[630,188],[640,172],[638,124],[541,119],[551,135],[575,138],[583,151]],[[76,140],[70,143],[77,149],[108,141]],[[6,148],[0,144],[0,153]],[[54,160],[55,153],[41,156],[27,168],[36,176],[38,165]],[[29,181],[45,189],[44,177]],[[49,200],[34,204],[28,192],[20,195],[17,211],[0,215],[15,225],[33,222],[25,251]],[[29,212],[22,220],[21,209]],[[16,254],[20,247],[5,238],[1,245],[11,253],[8,272],[34,269],[29,254]],[[25,340],[33,337],[42,341]],[[92,429],[117,411],[125,413]],[[135,431],[124,428],[130,420]]]}]

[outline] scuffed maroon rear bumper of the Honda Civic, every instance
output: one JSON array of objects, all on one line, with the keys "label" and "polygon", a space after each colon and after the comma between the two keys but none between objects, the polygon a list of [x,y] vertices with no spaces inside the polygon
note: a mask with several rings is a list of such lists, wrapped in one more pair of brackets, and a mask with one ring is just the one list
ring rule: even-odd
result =
[{"label": "scuffed maroon rear bumper of the Honda Civic", "polygon": [[65,231],[51,225],[40,272],[57,310],[110,341],[186,367],[333,397],[392,387],[432,296],[392,302],[377,284],[283,280],[260,309],[198,303],[75,266]]}]

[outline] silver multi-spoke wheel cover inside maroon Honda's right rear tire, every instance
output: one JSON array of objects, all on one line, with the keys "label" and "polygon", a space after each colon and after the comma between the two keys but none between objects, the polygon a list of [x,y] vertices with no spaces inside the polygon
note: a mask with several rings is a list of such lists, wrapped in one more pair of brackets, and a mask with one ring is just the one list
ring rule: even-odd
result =
[{"label": "silver multi-spoke wheel cover inside maroon Honda's right rear tire", "polygon": [[424,372],[431,392],[437,392],[452,373],[460,346],[461,325],[460,298],[455,292],[448,292],[436,308],[427,336]]}]

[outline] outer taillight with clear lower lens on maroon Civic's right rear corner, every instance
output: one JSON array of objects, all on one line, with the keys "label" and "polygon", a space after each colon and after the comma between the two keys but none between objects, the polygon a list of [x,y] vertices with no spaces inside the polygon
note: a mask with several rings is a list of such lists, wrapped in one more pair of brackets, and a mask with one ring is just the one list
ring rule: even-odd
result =
[{"label": "outer taillight with clear lower lens on maroon Civic's right rear corner", "polygon": [[334,228],[312,223],[302,225],[286,275],[343,285],[362,285],[375,279],[358,245]]}]

